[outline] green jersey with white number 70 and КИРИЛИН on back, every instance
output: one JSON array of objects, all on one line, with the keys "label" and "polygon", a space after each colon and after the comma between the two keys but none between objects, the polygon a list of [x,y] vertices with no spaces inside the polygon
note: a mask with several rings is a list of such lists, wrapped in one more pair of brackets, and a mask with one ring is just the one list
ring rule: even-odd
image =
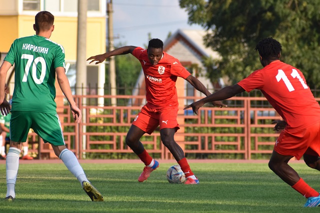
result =
[{"label": "green jersey with white number 70 and \u041a\u0418\u0420\u0418\u041b\u0418\u041d on back", "polygon": [[55,68],[65,67],[64,49],[48,38],[17,38],[4,60],[15,64],[12,111],[56,113]]}]

